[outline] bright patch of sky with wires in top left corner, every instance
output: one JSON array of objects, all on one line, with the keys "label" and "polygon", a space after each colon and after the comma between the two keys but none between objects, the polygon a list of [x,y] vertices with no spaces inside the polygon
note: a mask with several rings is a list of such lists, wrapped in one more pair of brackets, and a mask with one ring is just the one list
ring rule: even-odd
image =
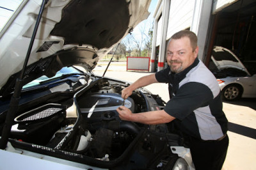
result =
[{"label": "bright patch of sky with wires in top left corner", "polygon": [[24,0],[0,1],[0,32]]}]

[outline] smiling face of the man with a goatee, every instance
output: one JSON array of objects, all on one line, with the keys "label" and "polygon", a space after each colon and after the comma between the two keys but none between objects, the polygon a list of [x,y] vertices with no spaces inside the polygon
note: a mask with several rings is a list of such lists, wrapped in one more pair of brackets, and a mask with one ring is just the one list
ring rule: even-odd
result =
[{"label": "smiling face of the man with a goatee", "polygon": [[172,72],[179,73],[192,65],[198,54],[198,47],[195,50],[190,45],[188,37],[172,39],[168,44],[166,60]]}]

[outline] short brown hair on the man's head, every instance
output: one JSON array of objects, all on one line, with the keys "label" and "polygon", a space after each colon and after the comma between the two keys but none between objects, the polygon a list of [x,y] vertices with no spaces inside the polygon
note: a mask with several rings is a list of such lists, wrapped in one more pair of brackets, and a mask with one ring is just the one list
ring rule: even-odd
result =
[{"label": "short brown hair on the man's head", "polygon": [[193,51],[196,49],[197,47],[197,36],[195,35],[195,33],[193,33],[192,31],[188,31],[188,30],[182,30],[182,31],[179,31],[177,33],[175,33],[170,40],[174,39],[174,40],[177,40],[177,39],[180,39],[182,37],[188,37],[189,40],[190,40],[190,45],[193,49]]}]

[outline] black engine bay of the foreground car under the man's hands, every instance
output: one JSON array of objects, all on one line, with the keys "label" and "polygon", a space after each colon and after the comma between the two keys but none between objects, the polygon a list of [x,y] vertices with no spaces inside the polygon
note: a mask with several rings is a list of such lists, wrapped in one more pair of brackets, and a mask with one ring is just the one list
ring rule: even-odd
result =
[{"label": "black engine bay of the foreground car under the man's hands", "polygon": [[121,93],[127,86],[124,82],[97,79],[76,91],[74,98],[68,95],[60,103],[44,104],[19,114],[11,131],[12,144],[26,149],[32,146],[38,153],[48,148],[48,154],[55,157],[62,157],[65,152],[67,159],[79,155],[76,162],[102,167],[129,164],[129,169],[144,168],[146,164],[141,164],[140,159],[147,162],[147,167],[159,162],[167,164],[172,157],[176,160],[170,145],[180,146],[182,139],[170,134],[167,124],[150,126],[120,120],[116,109],[123,102],[134,113],[164,107],[163,100],[146,89],[134,91],[124,101]]}]

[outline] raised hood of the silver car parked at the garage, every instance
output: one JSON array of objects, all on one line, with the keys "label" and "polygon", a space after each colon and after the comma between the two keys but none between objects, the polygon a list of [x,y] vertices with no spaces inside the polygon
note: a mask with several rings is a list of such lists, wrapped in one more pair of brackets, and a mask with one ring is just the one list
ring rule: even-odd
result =
[{"label": "raised hood of the silver car parked at the garage", "polygon": [[224,47],[215,46],[212,50],[211,59],[218,70],[223,70],[225,68],[236,68],[238,70],[242,70],[247,75],[250,75],[240,59],[237,58],[233,52]]}]

